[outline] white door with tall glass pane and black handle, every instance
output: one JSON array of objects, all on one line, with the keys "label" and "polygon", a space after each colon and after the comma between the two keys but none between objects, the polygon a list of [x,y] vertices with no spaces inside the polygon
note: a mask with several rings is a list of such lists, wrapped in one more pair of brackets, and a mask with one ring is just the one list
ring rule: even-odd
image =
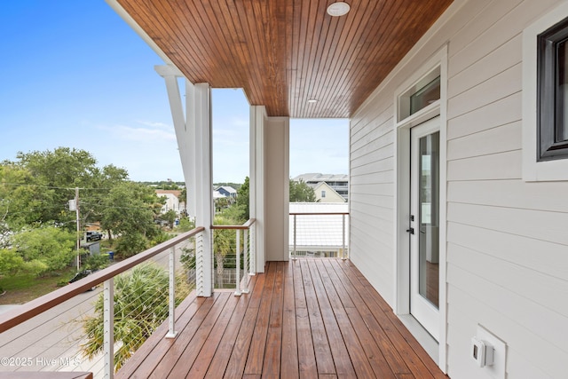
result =
[{"label": "white door with tall glass pane and black handle", "polygon": [[439,340],[439,117],[410,130],[410,312]]}]

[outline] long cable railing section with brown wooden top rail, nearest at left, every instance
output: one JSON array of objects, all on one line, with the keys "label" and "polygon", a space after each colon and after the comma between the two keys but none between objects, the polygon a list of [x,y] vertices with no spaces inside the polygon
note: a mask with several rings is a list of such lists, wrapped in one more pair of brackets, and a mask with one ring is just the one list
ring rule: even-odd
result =
[{"label": "long cable railing section with brown wooden top rail, nearest at left", "polygon": [[156,328],[162,325],[164,337],[175,337],[177,305],[203,288],[204,230],[179,234],[1,313],[0,373],[75,371],[113,378]]}]

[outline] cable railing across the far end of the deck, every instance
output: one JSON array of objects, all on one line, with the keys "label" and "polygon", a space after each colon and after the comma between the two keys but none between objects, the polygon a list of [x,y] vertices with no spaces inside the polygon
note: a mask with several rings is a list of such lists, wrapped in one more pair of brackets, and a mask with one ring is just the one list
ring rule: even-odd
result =
[{"label": "cable railing across the far end of the deck", "polygon": [[289,254],[349,258],[348,212],[290,212]]}]

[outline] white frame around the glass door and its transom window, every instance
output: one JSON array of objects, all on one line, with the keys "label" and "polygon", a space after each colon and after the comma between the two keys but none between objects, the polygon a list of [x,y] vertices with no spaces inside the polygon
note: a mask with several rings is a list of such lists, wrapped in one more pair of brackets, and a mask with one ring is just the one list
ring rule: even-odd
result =
[{"label": "white frame around the glass door and its transom window", "polygon": [[[398,107],[399,99],[404,96],[422,78],[430,75],[434,70],[440,73],[440,99],[430,106],[425,107],[415,114],[411,114],[398,122],[400,114]],[[440,286],[439,286],[439,312],[440,312],[440,331],[439,343],[422,328],[418,322],[407,322],[410,315],[410,257],[408,257],[409,242],[406,229],[408,227],[407,215],[410,214],[410,177],[408,168],[410,167],[410,129],[419,125],[430,118],[440,117]],[[395,233],[394,246],[395,258],[395,304],[394,312],[400,320],[403,320],[406,328],[422,344],[422,347],[430,354],[430,357],[438,363],[438,367],[447,373],[447,351],[446,351],[446,326],[447,326],[447,295],[446,295],[446,140],[447,140],[447,44],[432,57],[424,62],[422,67],[414,72],[404,83],[402,83],[394,93],[394,158],[395,158]],[[444,242],[442,242],[444,241]]]}]

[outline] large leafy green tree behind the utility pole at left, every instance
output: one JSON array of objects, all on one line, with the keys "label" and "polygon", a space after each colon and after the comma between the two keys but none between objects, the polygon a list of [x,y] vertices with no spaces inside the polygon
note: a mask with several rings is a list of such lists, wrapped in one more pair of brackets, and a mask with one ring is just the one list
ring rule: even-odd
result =
[{"label": "large leafy green tree behind the utility pole at left", "polygon": [[81,221],[99,221],[100,206],[110,189],[128,178],[113,165],[99,169],[84,150],[58,147],[53,151],[19,153],[14,162],[0,164],[0,211],[12,230],[24,225],[54,222],[75,230],[75,211],[68,201],[79,190]]}]

